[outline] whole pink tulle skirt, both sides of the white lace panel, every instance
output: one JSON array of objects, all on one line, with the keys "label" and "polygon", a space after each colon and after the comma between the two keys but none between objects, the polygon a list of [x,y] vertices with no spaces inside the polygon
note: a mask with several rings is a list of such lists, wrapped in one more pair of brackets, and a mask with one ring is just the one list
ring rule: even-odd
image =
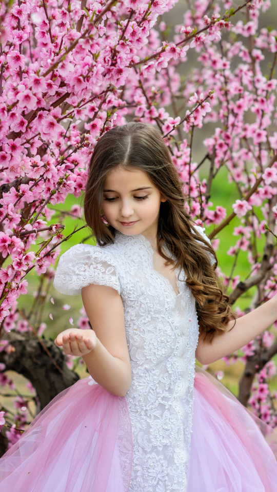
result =
[{"label": "whole pink tulle skirt, both sides of the white lace panel", "polygon": [[[188,488],[277,491],[277,433],[204,371],[195,374]],[[58,395],[0,460],[0,492],[133,492],[125,398],[88,385]]]}]

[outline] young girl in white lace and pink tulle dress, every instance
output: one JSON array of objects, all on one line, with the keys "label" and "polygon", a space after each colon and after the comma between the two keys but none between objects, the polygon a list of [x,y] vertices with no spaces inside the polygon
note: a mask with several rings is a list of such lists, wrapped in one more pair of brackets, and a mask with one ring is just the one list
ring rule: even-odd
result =
[{"label": "young girl in white lace and pink tulle dress", "polygon": [[194,366],[262,333],[277,298],[234,321],[214,250],[185,211],[153,126],[130,123],[97,142],[85,218],[97,245],[63,254],[54,286],[82,292],[92,330],[66,330],[55,343],[82,356],[91,376],[2,458],[1,492],[276,491],[261,430]]}]

